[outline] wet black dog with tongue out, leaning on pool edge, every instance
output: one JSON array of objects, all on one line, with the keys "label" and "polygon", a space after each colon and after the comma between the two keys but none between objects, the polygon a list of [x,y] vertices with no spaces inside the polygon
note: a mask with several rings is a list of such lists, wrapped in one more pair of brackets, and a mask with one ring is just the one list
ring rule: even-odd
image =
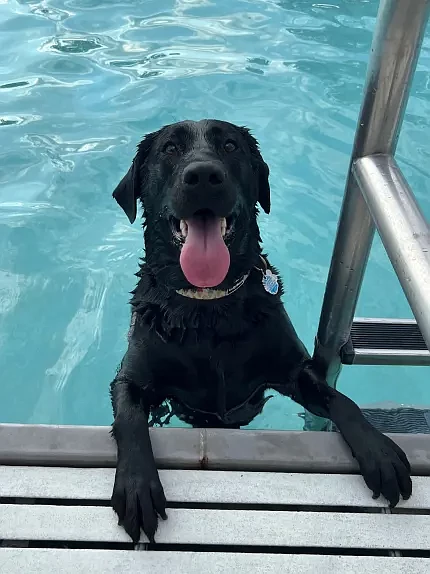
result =
[{"label": "wet black dog with tongue out, leaning on pool edge", "polygon": [[165,399],[193,426],[238,428],[275,389],[337,425],[374,497],[395,506],[411,495],[404,452],[326,384],[284,310],[257,225],[268,178],[247,129],[186,121],[147,135],[113,193],[131,223],[140,199],[145,221],[129,347],[111,385],[112,505],[135,542],[141,528],[153,541],[166,518],[148,433]]}]

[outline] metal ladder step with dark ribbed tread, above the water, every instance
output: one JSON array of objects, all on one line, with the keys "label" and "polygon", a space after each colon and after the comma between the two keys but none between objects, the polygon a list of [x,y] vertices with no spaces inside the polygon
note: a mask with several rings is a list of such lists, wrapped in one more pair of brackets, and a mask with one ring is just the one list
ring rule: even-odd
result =
[{"label": "metal ladder step with dark ribbed tread, above the water", "polygon": [[430,365],[430,352],[413,319],[354,319],[341,358],[344,365]]}]

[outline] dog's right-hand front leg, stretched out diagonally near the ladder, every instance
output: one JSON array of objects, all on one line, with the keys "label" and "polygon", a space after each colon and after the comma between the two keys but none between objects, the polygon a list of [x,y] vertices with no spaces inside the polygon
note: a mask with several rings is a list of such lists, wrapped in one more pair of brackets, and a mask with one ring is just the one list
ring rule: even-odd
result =
[{"label": "dog's right-hand front leg, stretched out diagonally near the ladder", "polygon": [[329,387],[312,360],[303,364],[290,396],[311,413],[336,424],[374,498],[382,494],[393,507],[400,495],[410,497],[411,467],[403,450],[376,430],[351,399]]}]

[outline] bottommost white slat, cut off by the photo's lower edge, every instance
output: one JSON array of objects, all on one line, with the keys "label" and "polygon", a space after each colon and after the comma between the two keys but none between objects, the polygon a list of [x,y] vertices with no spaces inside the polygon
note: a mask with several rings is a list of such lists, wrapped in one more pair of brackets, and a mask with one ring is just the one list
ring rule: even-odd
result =
[{"label": "bottommost white slat, cut off by the photo's lower edge", "polygon": [[125,550],[6,549],[1,556],[0,567],[7,574],[428,574],[429,562],[377,556]]}]

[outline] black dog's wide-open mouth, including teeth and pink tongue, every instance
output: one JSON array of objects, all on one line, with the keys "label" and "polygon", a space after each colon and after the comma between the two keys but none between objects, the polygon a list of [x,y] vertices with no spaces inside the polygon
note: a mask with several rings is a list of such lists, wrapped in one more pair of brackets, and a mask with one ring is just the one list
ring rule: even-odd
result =
[{"label": "black dog's wide-open mouth, including teeth and pink tongue", "polygon": [[233,232],[235,216],[218,217],[208,209],[188,219],[171,218],[174,239],[181,245],[180,264],[186,279],[195,287],[216,287],[230,267],[226,245]]}]

